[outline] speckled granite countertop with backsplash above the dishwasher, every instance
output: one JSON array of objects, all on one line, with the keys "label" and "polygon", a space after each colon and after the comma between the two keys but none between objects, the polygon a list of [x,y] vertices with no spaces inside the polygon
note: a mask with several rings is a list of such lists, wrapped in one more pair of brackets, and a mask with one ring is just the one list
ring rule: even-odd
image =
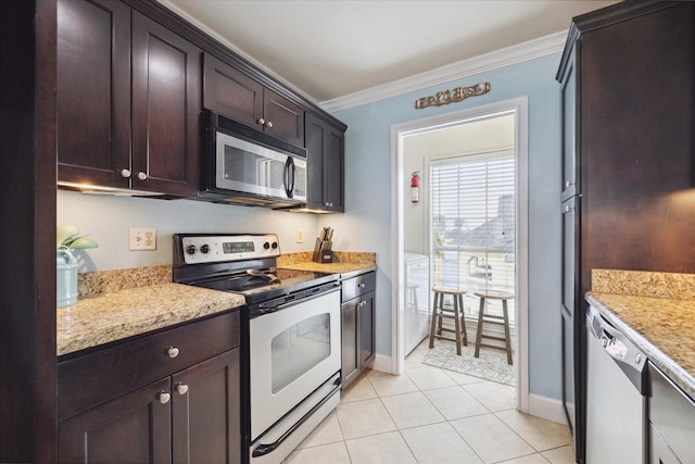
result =
[{"label": "speckled granite countertop with backsplash above the dishwasher", "polygon": [[592,291],[586,294],[590,304],[691,398],[695,398],[694,281],[690,274],[594,269]]}]

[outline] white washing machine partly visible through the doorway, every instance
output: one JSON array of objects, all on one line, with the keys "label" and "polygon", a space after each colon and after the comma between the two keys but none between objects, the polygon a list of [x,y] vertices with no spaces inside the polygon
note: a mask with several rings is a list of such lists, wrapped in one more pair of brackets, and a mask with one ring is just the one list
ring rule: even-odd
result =
[{"label": "white washing machine partly visible through the doorway", "polygon": [[429,256],[405,252],[405,308],[404,335],[407,355],[428,336],[428,315],[430,308]]}]

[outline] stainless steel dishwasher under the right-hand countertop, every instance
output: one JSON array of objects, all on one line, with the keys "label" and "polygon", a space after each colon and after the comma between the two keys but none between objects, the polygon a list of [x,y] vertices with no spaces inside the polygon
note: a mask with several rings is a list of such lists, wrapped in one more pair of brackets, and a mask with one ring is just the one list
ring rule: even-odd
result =
[{"label": "stainless steel dishwasher under the right-hand countertop", "polygon": [[586,464],[647,463],[646,355],[586,311]]}]

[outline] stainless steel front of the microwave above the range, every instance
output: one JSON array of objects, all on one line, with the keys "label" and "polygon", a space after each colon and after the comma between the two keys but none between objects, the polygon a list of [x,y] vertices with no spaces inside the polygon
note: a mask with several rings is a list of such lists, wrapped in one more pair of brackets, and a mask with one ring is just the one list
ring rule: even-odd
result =
[{"label": "stainless steel front of the microwave above the range", "polygon": [[215,187],[306,201],[306,160],[217,131]]}]

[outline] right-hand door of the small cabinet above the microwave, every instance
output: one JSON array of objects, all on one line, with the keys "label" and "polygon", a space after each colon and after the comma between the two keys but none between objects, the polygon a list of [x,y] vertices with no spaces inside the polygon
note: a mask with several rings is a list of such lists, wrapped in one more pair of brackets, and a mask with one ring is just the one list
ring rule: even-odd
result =
[{"label": "right-hand door of the small cabinet above the microwave", "polygon": [[263,117],[266,134],[304,147],[304,110],[300,106],[273,90],[265,89]]}]

